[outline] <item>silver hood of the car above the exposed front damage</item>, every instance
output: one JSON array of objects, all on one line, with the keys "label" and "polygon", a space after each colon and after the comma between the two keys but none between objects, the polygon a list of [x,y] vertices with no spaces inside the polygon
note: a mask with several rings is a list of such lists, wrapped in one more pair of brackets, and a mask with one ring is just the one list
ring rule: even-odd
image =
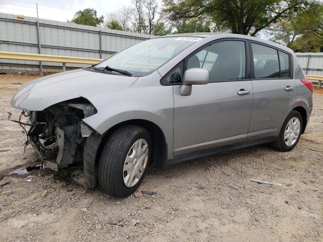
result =
[{"label": "silver hood of the car above the exposed front damage", "polygon": [[11,100],[22,110],[41,111],[53,104],[84,97],[91,102],[95,95],[108,94],[131,86],[137,77],[119,76],[78,69],[53,74],[23,85]]}]

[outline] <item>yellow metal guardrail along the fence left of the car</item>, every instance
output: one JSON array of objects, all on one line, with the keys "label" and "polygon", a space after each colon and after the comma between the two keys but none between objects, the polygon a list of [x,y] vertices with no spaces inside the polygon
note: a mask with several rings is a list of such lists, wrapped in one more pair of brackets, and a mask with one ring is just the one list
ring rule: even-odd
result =
[{"label": "yellow metal guardrail along the fence left of the car", "polygon": [[29,54],[17,52],[0,51],[0,59],[19,59],[21,61],[35,61],[35,62],[56,62],[63,64],[63,72],[66,71],[66,63],[74,64],[96,64],[102,59],[84,58],[73,56],[49,55],[49,54]]}]

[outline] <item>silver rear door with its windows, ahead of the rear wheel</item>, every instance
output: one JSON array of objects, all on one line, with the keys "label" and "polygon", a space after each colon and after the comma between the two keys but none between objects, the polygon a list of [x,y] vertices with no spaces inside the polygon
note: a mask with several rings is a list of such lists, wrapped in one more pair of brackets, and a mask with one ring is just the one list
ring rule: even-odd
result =
[{"label": "silver rear door with its windows, ahead of the rear wheel", "polygon": [[273,46],[249,42],[253,105],[248,140],[277,136],[295,97],[292,57]]}]

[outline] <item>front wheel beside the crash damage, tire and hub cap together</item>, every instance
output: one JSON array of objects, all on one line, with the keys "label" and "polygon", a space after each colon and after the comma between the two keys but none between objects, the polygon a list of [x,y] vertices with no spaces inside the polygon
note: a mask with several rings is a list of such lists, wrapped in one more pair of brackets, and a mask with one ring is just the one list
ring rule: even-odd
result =
[{"label": "front wheel beside the crash damage, tire and hub cap together", "polygon": [[[139,146],[140,149],[136,148]],[[138,158],[141,151],[147,155],[145,153]],[[99,159],[100,187],[113,197],[125,198],[134,193],[147,173],[151,151],[151,138],[144,128],[126,125],[116,130],[107,140]],[[145,158],[141,161],[143,156]],[[130,168],[124,170],[127,167]],[[132,174],[135,175],[132,177]]]}]

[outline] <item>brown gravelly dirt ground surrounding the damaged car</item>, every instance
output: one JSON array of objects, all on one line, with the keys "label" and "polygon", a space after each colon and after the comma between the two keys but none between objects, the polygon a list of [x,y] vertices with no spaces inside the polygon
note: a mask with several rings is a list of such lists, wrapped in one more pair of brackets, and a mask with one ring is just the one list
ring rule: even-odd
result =
[{"label": "brown gravelly dirt ground surrounding the damaged car", "polygon": [[139,191],[155,195],[114,199],[68,171],[25,171],[38,159],[7,112],[19,114],[11,97],[34,78],[0,75],[1,241],[323,241],[323,95],[291,152],[262,145],[150,168]]}]

